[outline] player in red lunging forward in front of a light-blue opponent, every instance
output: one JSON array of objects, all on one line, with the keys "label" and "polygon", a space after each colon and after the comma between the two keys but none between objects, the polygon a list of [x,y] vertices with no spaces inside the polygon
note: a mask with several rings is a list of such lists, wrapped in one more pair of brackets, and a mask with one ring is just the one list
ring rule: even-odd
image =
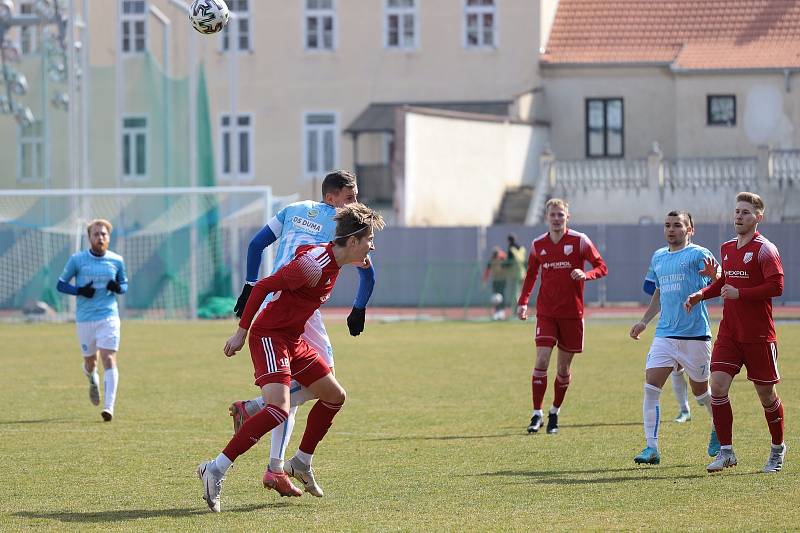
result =
[{"label": "player in red lunging forward in front of a light-blue opponent", "polygon": [[[266,407],[250,416],[216,459],[197,467],[203,481],[203,499],[215,512],[220,511],[220,492],[225,472],[237,457],[286,420],[289,411],[289,384],[292,379],[319,398],[308,413],[306,431],[295,456],[311,470],[317,444],[331,427],[342,407],[345,391],[325,360],[301,338],[306,321],[331,295],[339,269],[349,263],[363,264],[374,250],[375,231],[383,229],[383,218],[363,204],[337,209],[336,236],[328,244],[308,244],[297,248],[295,258],[275,274],[253,287],[239,328],[225,343],[225,355],[236,354],[249,338],[255,383],[261,388]],[[261,303],[274,293],[264,312]],[[258,317],[253,322],[253,318]],[[251,328],[252,324],[252,328]],[[267,471],[264,486],[281,496],[300,496],[284,472]]]}]

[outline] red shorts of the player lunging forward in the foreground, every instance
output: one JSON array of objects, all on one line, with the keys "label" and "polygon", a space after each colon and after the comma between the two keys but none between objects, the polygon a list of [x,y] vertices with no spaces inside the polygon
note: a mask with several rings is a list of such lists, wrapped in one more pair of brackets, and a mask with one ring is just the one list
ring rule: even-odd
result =
[{"label": "red shorts of the player lunging forward in the foreground", "polygon": [[283,383],[287,387],[294,379],[308,387],[331,373],[328,364],[306,341],[283,337],[250,335],[250,357],[256,385]]}]

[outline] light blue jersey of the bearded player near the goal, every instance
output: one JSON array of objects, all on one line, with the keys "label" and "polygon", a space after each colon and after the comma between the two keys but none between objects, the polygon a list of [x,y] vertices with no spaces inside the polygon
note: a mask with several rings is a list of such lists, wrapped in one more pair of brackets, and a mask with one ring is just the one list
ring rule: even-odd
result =
[{"label": "light blue jersey of the bearded player near the goal", "polygon": [[95,289],[92,298],[78,296],[76,322],[94,322],[119,314],[117,295],[108,290],[106,285],[112,279],[120,285],[128,283],[121,255],[110,250],[103,257],[92,255],[89,250],[72,254],[58,279],[69,283],[72,278],[76,279],[75,285],[78,287],[91,282]]}]

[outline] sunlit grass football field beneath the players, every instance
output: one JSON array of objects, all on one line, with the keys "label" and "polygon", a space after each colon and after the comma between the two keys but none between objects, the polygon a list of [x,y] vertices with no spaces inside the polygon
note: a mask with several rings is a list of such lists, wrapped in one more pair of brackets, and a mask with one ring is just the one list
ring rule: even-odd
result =
[{"label": "sunlit grass football field beneath the players", "polygon": [[232,322],[123,323],[110,424],[88,401],[74,325],[0,325],[0,530],[796,529],[800,324],[779,326],[789,452],[773,475],[760,472],[769,433],[741,376],[738,467],[706,474],[707,417],[693,405],[673,423],[669,385],[662,463],[633,463],[650,337],[628,327],[587,324],[561,433],[529,436],[530,323],[369,323],[358,338],[330,324],[349,396],[314,459],[325,497],[262,489],[264,439],[229,473],[217,515],[194,469],[226,444],[228,404],[257,392],[248,352],[222,355]]}]

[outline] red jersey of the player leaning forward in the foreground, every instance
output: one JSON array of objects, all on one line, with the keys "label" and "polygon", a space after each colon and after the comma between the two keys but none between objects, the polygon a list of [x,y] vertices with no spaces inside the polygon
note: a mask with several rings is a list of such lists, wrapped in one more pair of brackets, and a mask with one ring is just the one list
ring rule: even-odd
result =
[{"label": "red jersey of the player leaning forward in the foreground", "polygon": [[314,311],[330,298],[338,276],[333,243],[298,246],[294,259],[253,286],[239,326],[250,329],[261,302],[272,292],[274,297],[251,331],[261,337],[299,339]]}]

